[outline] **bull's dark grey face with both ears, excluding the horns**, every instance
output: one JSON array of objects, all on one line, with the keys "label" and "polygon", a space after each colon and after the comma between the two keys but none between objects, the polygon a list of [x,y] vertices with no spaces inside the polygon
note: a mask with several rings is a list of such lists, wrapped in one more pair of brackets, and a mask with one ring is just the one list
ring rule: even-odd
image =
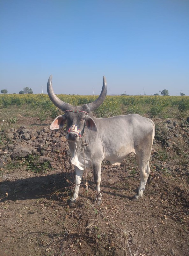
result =
[{"label": "bull's dark grey face with both ears, excluding the horns", "polygon": [[97,126],[94,120],[88,116],[85,111],[65,111],[65,114],[62,116],[56,117],[53,123],[50,126],[51,130],[60,129],[66,123],[67,127],[67,136],[66,139],[69,141],[77,142],[82,137],[84,133],[85,126],[97,132]]}]

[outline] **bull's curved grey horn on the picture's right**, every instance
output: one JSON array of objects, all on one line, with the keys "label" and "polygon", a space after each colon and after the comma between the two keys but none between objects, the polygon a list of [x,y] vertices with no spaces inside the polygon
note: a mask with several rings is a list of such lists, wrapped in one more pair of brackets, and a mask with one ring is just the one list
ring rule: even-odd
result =
[{"label": "bull's curved grey horn on the picture's right", "polygon": [[100,107],[100,105],[104,102],[105,97],[106,97],[106,93],[107,93],[107,83],[106,83],[106,78],[105,76],[103,76],[103,83],[102,83],[102,91],[98,97],[98,99],[96,99],[95,101],[85,104],[83,105],[83,109],[85,109],[84,111],[86,112],[91,112],[96,110],[98,107]]}]

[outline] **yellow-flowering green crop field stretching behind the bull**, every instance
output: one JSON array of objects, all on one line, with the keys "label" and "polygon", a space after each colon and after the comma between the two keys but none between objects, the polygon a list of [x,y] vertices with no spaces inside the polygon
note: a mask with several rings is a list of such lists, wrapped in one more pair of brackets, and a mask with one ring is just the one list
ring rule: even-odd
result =
[{"label": "yellow-flowering green crop field stretching behind the bull", "polygon": [[[74,106],[92,102],[98,96],[57,95]],[[54,106],[47,94],[1,94],[0,111],[8,108],[22,109],[41,121],[55,118],[62,111]],[[106,96],[104,103],[94,111],[98,118],[116,115],[139,114],[150,118],[177,118],[189,116],[189,96]],[[26,115],[26,113],[25,113]]]}]

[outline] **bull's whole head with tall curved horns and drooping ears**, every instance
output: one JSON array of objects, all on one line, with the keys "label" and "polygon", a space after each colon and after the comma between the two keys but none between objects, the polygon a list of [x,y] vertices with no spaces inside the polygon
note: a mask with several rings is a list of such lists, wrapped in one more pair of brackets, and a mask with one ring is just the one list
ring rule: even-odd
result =
[{"label": "bull's whole head with tall curved horns and drooping ears", "polygon": [[66,123],[68,132],[66,138],[67,140],[74,142],[79,141],[84,132],[85,126],[92,131],[97,131],[97,126],[88,113],[97,109],[105,100],[107,92],[105,76],[103,76],[102,91],[98,99],[82,106],[72,106],[69,103],[65,103],[60,100],[53,91],[52,76],[48,79],[47,92],[55,106],[65,112],[64,115],[56,117],[50,126],[51,130],[62,128]]}]

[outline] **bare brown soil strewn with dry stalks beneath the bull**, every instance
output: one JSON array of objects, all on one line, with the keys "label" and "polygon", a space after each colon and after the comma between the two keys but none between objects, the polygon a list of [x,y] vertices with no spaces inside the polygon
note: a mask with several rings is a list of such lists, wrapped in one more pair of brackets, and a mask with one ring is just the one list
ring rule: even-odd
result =
[{"label": "bare brown soil strewn with dry stalks beneath the bull", "polygon": [[[38,121],[22,117],[20,125],[37,127]],[[157,136],[162,136],[165,120],[154,122],[159,127]],[[120,256],[126,255],[125,250],[130,256],[189,255],[189,165],[184,159],[184,185],[177,152],[179,128],[170,131],[173,147],[162,148],[163,140],[158,138],[154,142],[151,176],[139,202],[131,201],[140,182],[134,156],[128,156],[120,168],[103,162],[103,200],[98,208],[93,204],[96,192],[91,169],[87,171],[88,193],[83,185],[76,206],[70,208],[73,166],[66,169],[57,160],[47,173],[2,168],[0,255]],[[183,147],[189,143],[188,128],[184,132]]]}]

